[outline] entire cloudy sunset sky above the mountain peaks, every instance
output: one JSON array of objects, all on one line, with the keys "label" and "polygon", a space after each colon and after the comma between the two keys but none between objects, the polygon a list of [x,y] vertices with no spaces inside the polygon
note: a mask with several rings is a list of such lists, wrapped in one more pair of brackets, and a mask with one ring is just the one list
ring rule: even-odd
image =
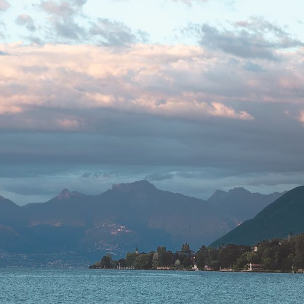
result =
[{"label": "entire cloudy sunset sky above the mountain peaks", "polygon": [[0,195],[304,184],[302,0],[0,0]]}]

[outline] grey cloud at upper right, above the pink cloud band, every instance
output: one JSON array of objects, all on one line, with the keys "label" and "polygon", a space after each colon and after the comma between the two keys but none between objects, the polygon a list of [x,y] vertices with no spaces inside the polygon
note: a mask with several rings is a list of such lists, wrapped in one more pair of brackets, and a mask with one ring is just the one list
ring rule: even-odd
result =
[{"label": "grey cloud at upper right, above the pink cloud band", "polygon": [[202,46],[241,58],[278,61],[277,50],[304,45],[281,27],[262,18],[234,22],[231,26],[231,30],[219,30],[206,23],[191,24],[186,32],[195,33]]}]

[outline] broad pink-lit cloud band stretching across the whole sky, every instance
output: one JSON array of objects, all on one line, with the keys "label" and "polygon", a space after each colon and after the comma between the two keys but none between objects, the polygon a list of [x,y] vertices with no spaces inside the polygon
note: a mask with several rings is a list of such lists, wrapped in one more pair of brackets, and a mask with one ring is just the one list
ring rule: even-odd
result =
[{"label": "broad pink-lit cloud band stretching across the whole sky", "polygon": [[[252,120],[247,102],[303,101],[303,50],[283,53],[263,72],[197,46],[0,45],[0,114],[32,107],[150,113],[185,119]],[[255,64],[263,64],[256,61]],[[85,128],[81,117],[54,117],[54,128]]]}]

